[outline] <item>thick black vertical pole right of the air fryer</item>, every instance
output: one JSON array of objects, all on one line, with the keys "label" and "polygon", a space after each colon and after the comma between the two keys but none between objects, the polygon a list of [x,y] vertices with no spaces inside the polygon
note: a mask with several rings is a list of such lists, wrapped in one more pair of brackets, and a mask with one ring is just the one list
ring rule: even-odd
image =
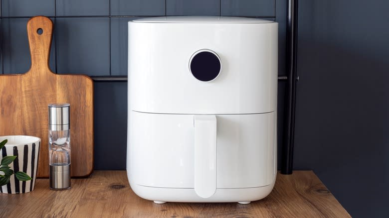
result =
[{"label": "thick black vertical pole right of the air fryer", "polygon": [[284,144],[282,148],[281,173],[292,174],[294,121],[296,105],[296,57],[297,57],[297,7],[298,0],[288,0],[286,24],[286,110],[284,120]]}]

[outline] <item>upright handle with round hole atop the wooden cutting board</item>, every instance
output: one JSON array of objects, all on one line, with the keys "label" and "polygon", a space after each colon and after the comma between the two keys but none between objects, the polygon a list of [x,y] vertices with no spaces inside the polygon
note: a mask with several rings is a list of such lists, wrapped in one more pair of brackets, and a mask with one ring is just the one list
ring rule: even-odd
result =
[{"label": "upright handle with round hole atop the wooden cutting board", "polygon": [[45,16],[31,17],[27,22],[28,43],[31,53],[31,68],[26,74],[53,73],[49,67],[53,22]]}]

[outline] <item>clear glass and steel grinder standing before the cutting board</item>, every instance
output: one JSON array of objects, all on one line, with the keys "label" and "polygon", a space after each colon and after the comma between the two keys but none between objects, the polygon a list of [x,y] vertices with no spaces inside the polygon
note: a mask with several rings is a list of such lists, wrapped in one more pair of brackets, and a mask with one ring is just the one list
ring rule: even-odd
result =
[{"label": "clear glass and steel grinder standing before the cutting board", "polygon": [[50,189],[70,189],[70,104],[48,105]]}]

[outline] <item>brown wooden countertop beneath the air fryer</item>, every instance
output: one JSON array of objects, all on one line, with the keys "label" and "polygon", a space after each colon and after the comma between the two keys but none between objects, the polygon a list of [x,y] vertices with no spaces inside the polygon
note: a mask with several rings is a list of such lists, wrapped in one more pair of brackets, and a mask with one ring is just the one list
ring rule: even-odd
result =
[{"label": "brown wooden countertop beneath the air fryer", "polygon": [[70,190],[53,191],[48,179],[37,179],[30,193],[0,193],[0,217],[350,217],[312,171],[278,174],[270,195],[249,205],[157,205],[135,195],[126,171],[95,171],[89,178],[71,182]]}]

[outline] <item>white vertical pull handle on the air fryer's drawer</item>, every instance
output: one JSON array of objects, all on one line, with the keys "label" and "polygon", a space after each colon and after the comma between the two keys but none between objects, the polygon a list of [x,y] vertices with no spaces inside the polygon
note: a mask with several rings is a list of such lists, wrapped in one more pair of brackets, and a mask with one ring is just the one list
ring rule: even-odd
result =
[{"label": "white vertical pull handle on the air fryer's drawer", "polygon": [[215,115],[194,115],[194,191],[201,198],[216,191]]}]

